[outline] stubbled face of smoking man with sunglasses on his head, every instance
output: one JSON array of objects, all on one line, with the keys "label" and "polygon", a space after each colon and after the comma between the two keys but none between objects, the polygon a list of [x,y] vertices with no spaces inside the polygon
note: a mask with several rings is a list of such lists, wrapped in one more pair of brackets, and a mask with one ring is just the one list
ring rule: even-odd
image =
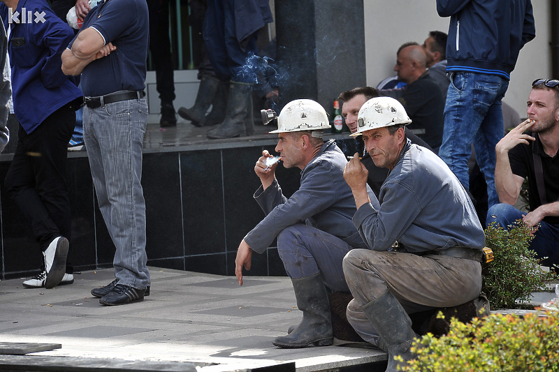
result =
[{"label": "stubbled face of smoking man with sunglasses on his head", "polygon": [[559,102],[554,89],[532,89],[528,96],[528,119],[536,122],[530,131],[545,133],[551,131],[559,121]]}]

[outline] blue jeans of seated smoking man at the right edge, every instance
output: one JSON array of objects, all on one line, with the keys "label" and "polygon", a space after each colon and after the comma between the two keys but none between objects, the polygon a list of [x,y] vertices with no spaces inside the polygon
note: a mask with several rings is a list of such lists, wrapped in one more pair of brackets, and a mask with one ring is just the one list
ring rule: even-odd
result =
[{"label": "blue jeans of seated smoking man at the right edge", "polygon": [[[521,220],[525,213],[510,204],[495,204],[487,212],[487,225],[495,222],[502,228],[508,228],[515,221]],[[542,265],[551,267],[559,265],[559,225],[551,225],[544,221],[539,223],[539,228],[530,242],[530,249],[537,253]]]}]

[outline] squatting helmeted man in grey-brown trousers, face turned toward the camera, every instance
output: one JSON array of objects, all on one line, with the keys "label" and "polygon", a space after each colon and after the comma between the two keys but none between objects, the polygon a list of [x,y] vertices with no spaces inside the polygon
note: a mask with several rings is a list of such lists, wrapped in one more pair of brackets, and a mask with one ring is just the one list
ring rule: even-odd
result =
[{"label": "squatting helmeted man in grey-brown trousers, face turned toward the camera", "polygon": [[407,139],[410,122],[389,97],[359,110],[353,136],[362,135],[375,165],[389,169],[378,202],[367,192],[358,154],[344,170],[357,207],[353,221],[370,248],[343,260],[354,297],[347,318],[365,341],[389,353],[387,371],[397,370],[396,355],[404,363],[413,357],[408,313],[458,306],[481,292],[485,236],[474,206],[448,166]]}]

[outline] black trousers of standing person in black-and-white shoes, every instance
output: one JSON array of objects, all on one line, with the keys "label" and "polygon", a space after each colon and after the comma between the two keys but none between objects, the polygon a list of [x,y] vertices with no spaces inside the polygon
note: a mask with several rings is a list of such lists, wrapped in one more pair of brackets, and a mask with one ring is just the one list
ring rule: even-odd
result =
[{"label": "black trousers of standing person in black-and-white shoes", "polygon": [[[66,159],[74,126],[75,107],[69,103],[31,133],[20,126],[17,147],[6,174],[8,195],[31,224],[42,251],[55,237],[71,238]],[[70,274],[71,267],[68,269]]]}]

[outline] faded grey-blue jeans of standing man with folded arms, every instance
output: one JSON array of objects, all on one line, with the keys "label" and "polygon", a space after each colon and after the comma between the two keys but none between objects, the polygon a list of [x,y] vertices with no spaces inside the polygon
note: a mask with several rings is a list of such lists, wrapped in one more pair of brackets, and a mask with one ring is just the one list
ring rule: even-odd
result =
[{"label": "faded grey-blue jeans of standing man with folded arms", "polygon": [[84,107],[83,129],[99,209],[115,244],[119,283],[150,285],[145,253],[142,147],[147,121],[145,98]]}]

